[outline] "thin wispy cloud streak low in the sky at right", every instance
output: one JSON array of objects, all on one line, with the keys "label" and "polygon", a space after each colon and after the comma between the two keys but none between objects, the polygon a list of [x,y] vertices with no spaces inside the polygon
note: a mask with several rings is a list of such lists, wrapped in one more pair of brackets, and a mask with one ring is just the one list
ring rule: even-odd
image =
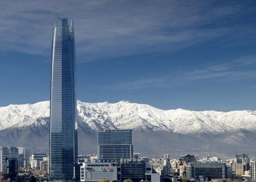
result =
[{"label": "thin wispy cloud streak low in the sky at right", "polygon": [[[125,83],[101,86],[106,90],[133,90],[147,88],[170,88],[184,86],[199,80],[211,82],[234,82],[255,79],[254,61],[256,55],[240,57],[236,60],[197,70],[180,70],[159,77],[140,79]],[[253,66],[248,69],[248,66]],[[243,69],[247,68],[247,69]]]}]

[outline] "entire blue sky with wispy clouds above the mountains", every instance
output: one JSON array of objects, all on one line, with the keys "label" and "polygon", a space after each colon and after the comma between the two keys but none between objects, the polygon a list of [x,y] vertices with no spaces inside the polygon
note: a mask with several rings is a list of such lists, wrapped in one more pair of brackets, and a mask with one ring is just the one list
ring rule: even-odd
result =
[{"label": "entire blue sky with wispy clouds above the mountains", "polygon": [[0,107],[50,98],[57,17],[74,21],[77,99],[256,110],[255,1],[1,1]]}]

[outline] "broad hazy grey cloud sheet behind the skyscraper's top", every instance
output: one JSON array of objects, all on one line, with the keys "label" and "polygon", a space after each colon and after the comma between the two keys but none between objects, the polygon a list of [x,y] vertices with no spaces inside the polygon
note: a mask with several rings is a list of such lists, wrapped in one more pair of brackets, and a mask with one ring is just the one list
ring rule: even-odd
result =
[{"label": "broad hazy grey cloud sheet behind the skyscraper's top", "polygon": [[[74,19],[80,61],[172,52],[219,39],[252,41],[251,9],[222,1],[2,1],[1,49],[50,55],[56,17]],[[230,18],[232,21],[229,21]],[[238,20],[236,21],[236,18]]]}]

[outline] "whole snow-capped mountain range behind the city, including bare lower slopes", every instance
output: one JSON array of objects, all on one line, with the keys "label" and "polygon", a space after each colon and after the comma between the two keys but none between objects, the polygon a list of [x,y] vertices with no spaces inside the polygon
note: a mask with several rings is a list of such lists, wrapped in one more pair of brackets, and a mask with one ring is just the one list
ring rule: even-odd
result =
[{"label": "whole snow-capped mountain range behind the city, including bare lower slopes", "polygon": [[[49,101],[0,107],[0,145],[49,151]],[[97,131],[133,129],[134,152],[148,157],[170,153],[256,157],[256,111],[161,110],[120,101],[77,101],[78,151],[97,151]]]}]

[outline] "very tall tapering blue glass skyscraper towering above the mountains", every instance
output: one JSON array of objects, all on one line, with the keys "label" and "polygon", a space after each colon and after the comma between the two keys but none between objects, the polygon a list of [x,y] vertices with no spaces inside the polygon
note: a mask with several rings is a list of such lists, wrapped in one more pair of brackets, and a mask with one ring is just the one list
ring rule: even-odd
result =
[{"label": "very tall tapering blue glass skyscraper towering above the mountains", "polygon": [[73,22],[58,19],[53,28],[50,102],[50,180],[76,176],[75,40]]}]

